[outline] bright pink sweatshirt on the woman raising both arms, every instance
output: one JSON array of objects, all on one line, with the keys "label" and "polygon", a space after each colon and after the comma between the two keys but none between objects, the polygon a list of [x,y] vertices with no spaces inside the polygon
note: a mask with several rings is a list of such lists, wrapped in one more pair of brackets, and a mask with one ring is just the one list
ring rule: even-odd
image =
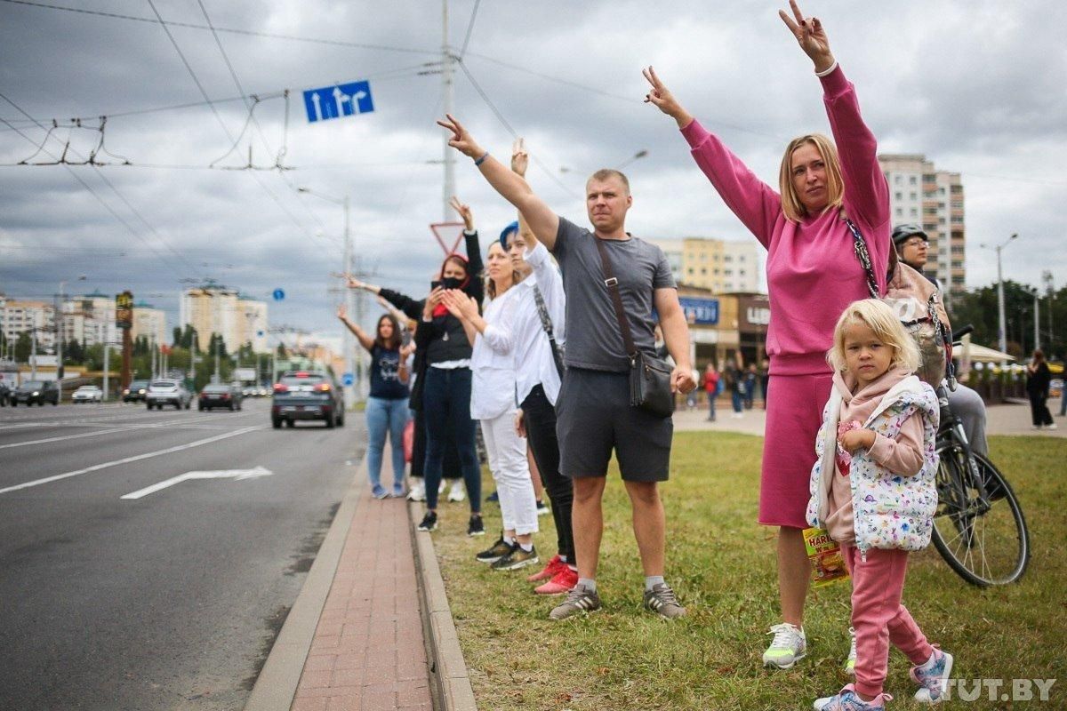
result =
[{"label": "bright pink sweatshirt on the woman raising both arms", "polygon": [[[879,293],[886,292],[891,243],[889,187],[877,142],[860,116],[856,87],[839,66],[823,82],[826,113],[841,158],[845,213],[866,241]],[[848,304],[870,294],[838,210],[790,222],[778,192],[761,181],[699,122],[682,129],[697,165],[722,200],[767,248],[771,375],[826,373],[833,326]]]}]

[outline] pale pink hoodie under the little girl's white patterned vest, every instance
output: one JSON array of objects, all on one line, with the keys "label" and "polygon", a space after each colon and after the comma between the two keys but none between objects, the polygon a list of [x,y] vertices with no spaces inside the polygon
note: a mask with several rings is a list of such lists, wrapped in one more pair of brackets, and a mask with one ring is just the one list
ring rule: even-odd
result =
[{"label": "pale pink hoodie under the little girl's white patterned vest", "polygon": [[[834,373],[833,387],[841,395],[841,413],[838,418],[839,432],[863,426],[890,389],[910,375],[906,370],[894,368],[874,383],[857,390],[856,376],[851,373]],[[923,468],[923,419],[912,415],[901,424],[896,439],[875,434],[871,458],[895,474],[913,476]],[[856,527],[853,517],[853,489],[848,481],[849,460],[847,452],[838,447],[837,467],[830,485],[830,515],[826,517],[826,530],[838,543],[856,545]]]}]

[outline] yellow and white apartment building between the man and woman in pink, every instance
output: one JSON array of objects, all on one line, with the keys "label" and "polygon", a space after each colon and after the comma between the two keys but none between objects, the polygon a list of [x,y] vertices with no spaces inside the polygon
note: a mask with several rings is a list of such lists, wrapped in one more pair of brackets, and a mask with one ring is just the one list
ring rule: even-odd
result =
[{"label": "yellow and white apartment building between the man and woman in pink", "polygon": [[650,241],[664,251],[676,282],[720,294],[760,291],[755,242],[703,237]]}]

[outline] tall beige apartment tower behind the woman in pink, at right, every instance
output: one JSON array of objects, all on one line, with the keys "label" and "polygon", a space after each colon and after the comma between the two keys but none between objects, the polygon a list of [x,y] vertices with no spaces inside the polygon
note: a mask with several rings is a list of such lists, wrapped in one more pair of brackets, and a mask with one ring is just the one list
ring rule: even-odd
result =
[{"label": "tall beige apartment tower behind the woman in pink, at right", "polygon": [[922,225],[930,238],[926,269],[940,279],[945,301],[951,302],[967,288],[967,230],[959,174],[938,171],[922,155],[882,155],[878,163],[889,182],[893,224]]}]

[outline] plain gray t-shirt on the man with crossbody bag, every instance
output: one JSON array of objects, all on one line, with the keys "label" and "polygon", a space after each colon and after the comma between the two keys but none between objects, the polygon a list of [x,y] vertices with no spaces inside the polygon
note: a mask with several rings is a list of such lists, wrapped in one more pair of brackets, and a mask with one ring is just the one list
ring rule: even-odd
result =
[{"label": "plain gray t-shirt on the man with crossbody bag", "polygon": [[[571,368],[626,372],[630,361],[619,330],[619,319],[611,305],[611,294],[604,286],[598,239],[584,227],[559,219],[553,254],[563,272],[567,293],[567,351]],[[674,277],[663,249],[632,237],[628,240],[603,240],[611,270],[619,279],[622,307],[630,321],[634,344],[651,355],[655,350],[652,316],[653,292],[673,289]]]}]

